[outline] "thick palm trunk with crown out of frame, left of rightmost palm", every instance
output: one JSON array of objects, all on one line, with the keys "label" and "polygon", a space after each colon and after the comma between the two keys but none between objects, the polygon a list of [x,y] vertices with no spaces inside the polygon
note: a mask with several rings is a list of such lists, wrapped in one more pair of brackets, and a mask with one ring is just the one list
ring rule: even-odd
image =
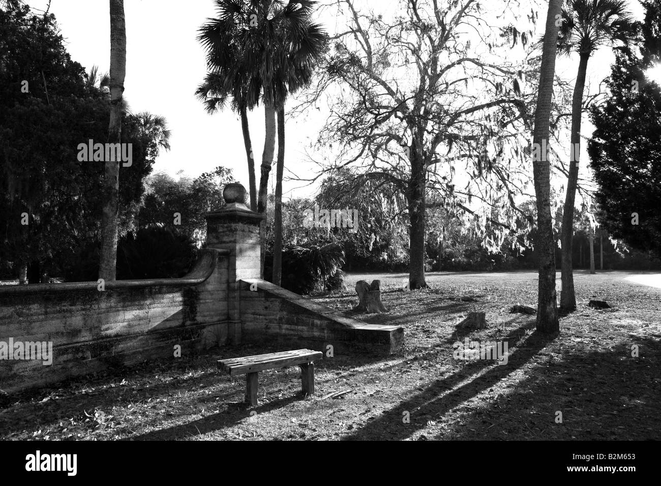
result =
[{"label": "thick palm trunk with crown out of frame, left of rightmost palm", "polygon": [[544,148],[544,150],[535,151],[538,157],[535,157],[533,161],[535,199],[537,200],[537,241],[535,246],[539,254],[537,331],[549,334],[560,331],[555,294],[555,240],[551,220],[551,166],[548,157],[548,143],[558,42],[556,16],[561,13],[562,6],[563,0],[549,0],[533,132],[533,147]]}]

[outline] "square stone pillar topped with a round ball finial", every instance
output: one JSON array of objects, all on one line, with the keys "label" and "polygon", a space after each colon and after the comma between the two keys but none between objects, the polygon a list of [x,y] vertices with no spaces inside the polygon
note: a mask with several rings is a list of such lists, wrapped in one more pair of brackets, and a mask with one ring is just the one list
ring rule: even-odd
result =
[{"label": "square stone pillar topped with a round ball finial", "polygon": [[226,206],[206,216],[207,247],[229,250],[227,277],[229,343],[241,343],[239,280],[261,278],[259,226],[264,216],[246,206],[245,187],[235,182],[223,190]]}]

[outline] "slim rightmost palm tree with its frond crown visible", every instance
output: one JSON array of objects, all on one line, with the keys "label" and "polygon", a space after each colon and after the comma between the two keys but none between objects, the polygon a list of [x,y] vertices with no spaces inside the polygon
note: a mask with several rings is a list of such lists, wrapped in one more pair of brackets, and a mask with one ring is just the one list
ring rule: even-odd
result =
[{"label": "slim rightmost palm tree with its frond crown visible", "polygon": [[566,55],[577,52],[579,56],[578,75],[576,75],[572,99],[571,148],[561,237],[563,288],[560,307],[565,311],[573,311],[576,309],[572,274],[574,202],[578,183],[580,124],[588,60],[601,46],[613,46],[617,41],[627,43],[632,32],[633,20],[626,11],[624,0],[571,0],[568,7],[563,9],[562,15],[563,22],[558,37],[559,50]]}]

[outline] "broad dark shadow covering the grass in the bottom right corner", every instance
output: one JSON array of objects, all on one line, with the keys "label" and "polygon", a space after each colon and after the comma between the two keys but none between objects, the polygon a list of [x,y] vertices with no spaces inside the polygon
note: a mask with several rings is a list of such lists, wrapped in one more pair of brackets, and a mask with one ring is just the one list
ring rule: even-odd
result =
[{"label": "broad dark shadow covering the grass in the bottom right corner", "polygon": [[516,388],[474,407],[435,438],[659,440],[661,343],[636,342],[640,357],[625,343],[587,353],[563,350],[560,359],[532,368]]}]

